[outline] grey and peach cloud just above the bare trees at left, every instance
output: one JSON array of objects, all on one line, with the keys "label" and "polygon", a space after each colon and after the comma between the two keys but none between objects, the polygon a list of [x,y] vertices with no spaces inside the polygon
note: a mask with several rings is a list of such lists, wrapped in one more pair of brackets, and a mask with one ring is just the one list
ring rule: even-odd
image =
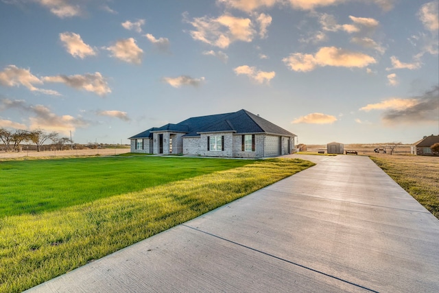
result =
[{"label": "grey and peach cloud just above the bare trees at left", "polygon": [[[69,134],[76,128],[85,128],[89,122],[82,117],[73,117],[71,115],[56,115],[49,108],[43,105],[29,105],[20,99],[2,99],[0,109],[16,108],[29,113],[29,129],[43,128],[46,131],[56,131],[62,134]],[[23,125],[20,124],[20,128]]]}]

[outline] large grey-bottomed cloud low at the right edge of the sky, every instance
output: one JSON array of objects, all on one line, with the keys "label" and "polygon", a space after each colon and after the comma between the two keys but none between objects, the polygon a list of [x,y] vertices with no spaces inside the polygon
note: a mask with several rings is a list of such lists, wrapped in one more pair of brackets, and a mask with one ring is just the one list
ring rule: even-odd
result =
[{"label": "large grey-bottomed cloud low at the right edge of the sky", "polygon": [[368,104],[360,110],[385,110],[382,120],[387,125],[437,124],[439,110],[439,86],[423,95],[409,99],[393,98],[377,104]]}]

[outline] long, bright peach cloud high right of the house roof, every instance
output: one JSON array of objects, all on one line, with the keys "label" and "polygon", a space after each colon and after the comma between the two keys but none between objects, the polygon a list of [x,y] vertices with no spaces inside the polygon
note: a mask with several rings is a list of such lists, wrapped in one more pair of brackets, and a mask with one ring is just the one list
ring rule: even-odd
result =
[{"label": "long, bright peach cloud high right of the house roof", "polygon": [[312,71],[316,67],[366,67],[377,61],[372,56],[336,47],[321,47],[314,55],[293,53],[282,61],[294,71]]}]

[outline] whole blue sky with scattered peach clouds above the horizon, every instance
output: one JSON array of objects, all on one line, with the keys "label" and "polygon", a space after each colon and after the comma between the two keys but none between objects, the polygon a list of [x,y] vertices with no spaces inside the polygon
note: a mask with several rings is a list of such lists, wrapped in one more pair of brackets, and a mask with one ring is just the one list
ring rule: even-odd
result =
[{"label": "whole blue sky with scattered peach clouds above the horizon", "polygon": [[0,0],[0,128],[129,143],[251,113],[296,143],[439,134],[438,1]]}]

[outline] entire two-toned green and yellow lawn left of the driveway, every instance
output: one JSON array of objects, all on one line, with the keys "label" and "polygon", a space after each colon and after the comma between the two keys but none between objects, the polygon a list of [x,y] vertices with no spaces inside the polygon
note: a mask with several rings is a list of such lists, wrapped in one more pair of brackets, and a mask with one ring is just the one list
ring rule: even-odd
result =
[{"label": "entire two-toned green and yellow lawn left of the driveway", "polygon": [[0,162],[0,292],[31,288],[311,165],[151,156]]}]

